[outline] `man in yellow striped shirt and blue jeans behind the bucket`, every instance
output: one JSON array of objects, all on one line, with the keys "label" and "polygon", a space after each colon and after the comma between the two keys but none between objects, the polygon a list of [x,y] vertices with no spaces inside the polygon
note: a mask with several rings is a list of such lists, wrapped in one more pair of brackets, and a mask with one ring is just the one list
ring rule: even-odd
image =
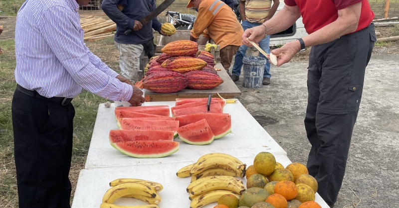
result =
[{"label": "man in yellow striped shirt and blue jeans behind the bucket", "polygon": [[[271,17],[273,17],[274,13],[276,13],[279,4],[279,0],[273,0],[273,6],[272,0],[240,0],[239,7],[242,18],[242,28],[246,30],[248,28],[252,28],[261,25],[263,22],[266,22]],[[270,53],[269,41],[270,35],[267,35],[259,42],[259,47],[268,54]],[[231,72],[231,79],[234,82],[238,81],[241,74],[242,58],[244,57],[247,49],[248,46],[241,45],[237,53],[235,54],[234,66]],[[263,54],[260,54],[259,56],[266,58],[265,56],[263,56]],[[270,77],[270,62],[269,60],[267,60],[263,72],[262,84],[269,85]]]}]

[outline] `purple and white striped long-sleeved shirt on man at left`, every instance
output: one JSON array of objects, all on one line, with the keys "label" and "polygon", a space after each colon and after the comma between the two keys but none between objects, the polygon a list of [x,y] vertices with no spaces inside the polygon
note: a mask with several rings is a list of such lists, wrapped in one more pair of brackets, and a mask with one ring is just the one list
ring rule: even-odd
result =
[{"label": "purple and white striped long-sleeved shirt on man at left", "polygon": [[41,96],[73,98],[82,89],[112,101],[128,101],[132,86],[83,42],[75,0],[26,0],[15,27],[15,81]]}]

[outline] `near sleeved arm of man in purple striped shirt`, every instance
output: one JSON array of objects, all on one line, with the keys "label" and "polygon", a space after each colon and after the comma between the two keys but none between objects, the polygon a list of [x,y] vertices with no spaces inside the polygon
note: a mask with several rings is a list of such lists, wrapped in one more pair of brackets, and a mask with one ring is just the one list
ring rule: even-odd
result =
[{"label": "near sleeved arm of man in purple striped shirt", "polygon": [[[68,8],[53,6],[44,12],[39,24],[41,35],[58,61],[87,91],[112,101],[131,100],[131,85],[110,77],[92,64],[91,54],[87,52],[79,22],[75,23],[74,16]],[[137,99],[140,102],[140,98]]]}]

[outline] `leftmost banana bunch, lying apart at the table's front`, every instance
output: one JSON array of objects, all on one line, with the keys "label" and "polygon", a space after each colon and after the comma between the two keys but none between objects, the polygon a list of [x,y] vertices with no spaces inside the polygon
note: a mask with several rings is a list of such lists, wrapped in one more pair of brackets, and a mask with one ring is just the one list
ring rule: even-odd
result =
[{"label": "leftmost banana bunch, lying apart at the table's front", "polygon": [[[160,183],[141,179],[121,178],[109,183],[112,187],[103,196],[103,204],[100,208],[158,208],[161,197],[157,194],[164,187]],[[117,199],[122,197],[141,200],[149,205],[146,206],[118,206],[113,205]]]}]

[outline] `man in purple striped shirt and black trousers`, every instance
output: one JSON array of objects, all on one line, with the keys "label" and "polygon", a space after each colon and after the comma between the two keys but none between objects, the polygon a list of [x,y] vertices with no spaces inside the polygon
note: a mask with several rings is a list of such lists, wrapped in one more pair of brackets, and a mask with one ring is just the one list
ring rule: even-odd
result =
[{"label": "man in purple striped shirt and black trousers", "polygon": [[133,106],[144,102],[141,90],[83,42],[78,10],[87,3],[27,0],[17,14],[11,112],[19,208],[70,207],[72,98],[86,89]]}]

